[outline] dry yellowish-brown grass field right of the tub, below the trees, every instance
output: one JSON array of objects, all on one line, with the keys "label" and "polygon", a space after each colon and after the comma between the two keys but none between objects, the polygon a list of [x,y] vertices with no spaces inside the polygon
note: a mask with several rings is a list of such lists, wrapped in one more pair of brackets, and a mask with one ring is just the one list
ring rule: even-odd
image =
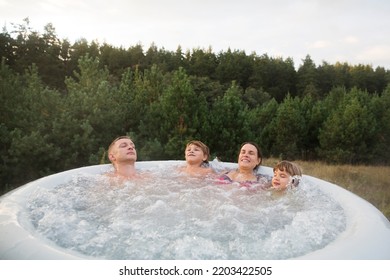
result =
[{"label": "dry yellowish-brown grass field right of the tub, below the trees", "polygon": [[[273,167],[277,161],[275,158],[264,159],[262,165]],[[369,201],[390,220],[390,166],[296,163],[304,174],[339,185]]]}]

